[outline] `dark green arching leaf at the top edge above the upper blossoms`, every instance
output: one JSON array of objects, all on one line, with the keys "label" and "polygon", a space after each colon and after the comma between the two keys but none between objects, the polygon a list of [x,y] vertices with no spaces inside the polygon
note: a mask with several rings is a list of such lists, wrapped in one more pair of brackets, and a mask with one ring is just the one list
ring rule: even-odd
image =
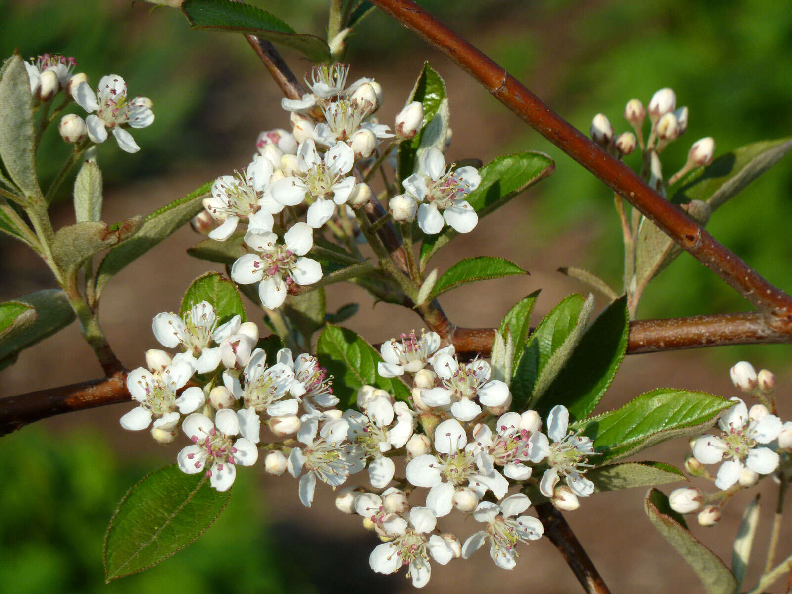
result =
[{"label": "dark green arching leaf at the top edge above the upper blossoms", "polygon": [[181,10],[192,29],[246,33],[299,51],[313,63],[330,59],[330,48],[321,37],[296,33],[257,6],[228,0],[185,0]]}]

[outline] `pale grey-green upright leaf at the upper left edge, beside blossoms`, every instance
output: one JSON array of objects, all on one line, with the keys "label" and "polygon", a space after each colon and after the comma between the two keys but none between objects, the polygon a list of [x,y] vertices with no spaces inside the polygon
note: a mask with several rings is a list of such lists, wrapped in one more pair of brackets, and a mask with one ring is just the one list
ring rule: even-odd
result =
[{"label": "pale grey-green upright leaf at the upper left edge, beside blossoms", "polygon": [[36,176],[33,96],[25,63],[14,54],[0,79],[0,157],[11,180],[27,196],[41,197]]}]

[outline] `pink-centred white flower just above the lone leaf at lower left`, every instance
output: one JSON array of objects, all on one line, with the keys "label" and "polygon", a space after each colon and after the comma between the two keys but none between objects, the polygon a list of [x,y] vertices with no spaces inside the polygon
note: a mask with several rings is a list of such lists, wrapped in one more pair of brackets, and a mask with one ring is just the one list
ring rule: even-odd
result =
[{"label": "pink-centred white flower just above the lone leaf at lower left", "polygon": [[[206,471],[209,484],[218,491],[230,489],[237,476],[236,465],[253,466],[258,459],[257,436],[251,439],[246,435],[238,420],[240,413],[220,409],[215,414],[215,422],[201,413],[187,417],[181,428],[192,440],[192,445],[179,452],[179,470],[195,474],[210,466]],[[234,440],[241,430],[242,437]]]}]

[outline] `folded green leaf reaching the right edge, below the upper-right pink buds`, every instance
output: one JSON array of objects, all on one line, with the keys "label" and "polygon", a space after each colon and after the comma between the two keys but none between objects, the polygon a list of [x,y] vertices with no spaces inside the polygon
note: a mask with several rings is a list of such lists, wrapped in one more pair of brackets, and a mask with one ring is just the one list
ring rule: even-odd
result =
[{"label": "folded green leaf reaching the right edge, below the upper-right pink buds", "polygon": [[770,169],[792,148],[792,138],[763,140],[722,154],[688,173],[668,195],[677,204],[702,200],[712,211]]}]

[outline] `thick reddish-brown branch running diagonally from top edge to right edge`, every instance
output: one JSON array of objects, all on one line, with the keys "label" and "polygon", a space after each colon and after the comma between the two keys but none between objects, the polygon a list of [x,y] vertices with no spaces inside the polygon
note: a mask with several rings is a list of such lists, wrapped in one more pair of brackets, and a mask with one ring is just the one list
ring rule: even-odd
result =
[{"label": "thick reddish-brown branch running diagonally from top edge to right edge", "polygon": [[506,70],[468,41],[410,0],[372,0],[402,25],[417,32],[442,51],[522,120],[539,131],[596,177],[619,192],[635,208],[657,224],[693,257],[712,269],[760,311],[780,332],[792,333],[792,297],[774,287],[740,258],[699,227],[680,208],[665,200],[632,169],[592,143],[569,122],[558,116]]}]

